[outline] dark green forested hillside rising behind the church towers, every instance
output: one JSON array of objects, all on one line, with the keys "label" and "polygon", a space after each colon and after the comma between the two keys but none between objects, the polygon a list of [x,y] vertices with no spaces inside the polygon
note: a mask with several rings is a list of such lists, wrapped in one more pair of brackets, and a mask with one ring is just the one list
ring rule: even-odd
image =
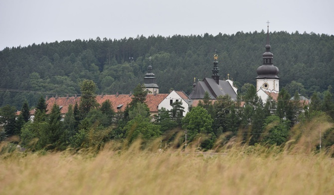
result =
[{"label": "dark green forested hillside rising behind the church towers", "polygon": [[[220,78],[230,74],[240,89],[245,83],[255,84],[265,43],[262,31],[120,40],[98,37],[5,48],[0,51],[0,107],[10,104],[19,109],[24,99],[34,106],[41,95],[80,94],[80,82],[85,79],[98,85],[97,93],[129,94],[143,83],[150,63],[160,93],[173,88],[189,94],[194,77],[211,77],[215,50]],[[311,97],[334,84],[333,35],[273,32],[270,44],[274,65],[280,69],[280,87],[291,95],[297,89]]]}]

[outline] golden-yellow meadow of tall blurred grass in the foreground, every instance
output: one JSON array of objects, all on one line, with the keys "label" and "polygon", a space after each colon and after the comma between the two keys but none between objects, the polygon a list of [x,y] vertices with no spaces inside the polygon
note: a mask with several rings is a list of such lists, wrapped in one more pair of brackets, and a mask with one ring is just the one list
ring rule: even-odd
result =
[{"label": "golden-yellow meadow of tall blurred grass in the foreground", "polygon": [[92,153],[21,153],[0,158],[1,195],[323,195],[334,194],[334,161],[279,148],[231,147]]}]

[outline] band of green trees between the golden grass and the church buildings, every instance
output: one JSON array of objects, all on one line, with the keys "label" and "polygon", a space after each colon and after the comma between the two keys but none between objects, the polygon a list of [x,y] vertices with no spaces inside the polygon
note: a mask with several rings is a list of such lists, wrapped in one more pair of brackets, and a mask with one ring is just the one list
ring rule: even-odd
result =
[{"label": "band of green trees between the golden grass and the church buildings", "polygon": [[[255,86],[247,84],[237,101],[226,95],[217,97],[212,103],[206,93],[204,99],[196,107],[191,107],[185,116],[179,101],[174,102],[170,110],[160,109],[155,121],[152,121],[145,103],[148,91],[144,85],[135,87],[131,103],[122,113],[115,112],[113,102],[109,100],[101,105],[96,102],[97,85],[92,80],[84,80],[80,89],[80,103],[69,106],[63,119],[57,104],[46,114],[43,97],[39,98],[35,107],[33,121],[29,118],[27,101],[23,102],[18,116],[15,107],[1,107],[0,138],[19,135],[20,144],[32,151],[64,150],[68,147],[99,150],[110,140],[117,140],[127,147],[138,138],[143,140],[143,147],[157,138],[165,145],[176,139],[178,147],[200,140],[200,147],[209,150],[217,140],[224,144],[231,139],[250,145],[281,145],[290,139],[298,140],[305,126],[313,120],[334,121],[332,89],[323,93],[324,99],[314,93],[308,104],[300,98],[298,91],[291,97],[283,88],[277,101],[269,98],[263,103],[256,94]],[[323,146],[333,145],[334,128],[323,133]]]}]

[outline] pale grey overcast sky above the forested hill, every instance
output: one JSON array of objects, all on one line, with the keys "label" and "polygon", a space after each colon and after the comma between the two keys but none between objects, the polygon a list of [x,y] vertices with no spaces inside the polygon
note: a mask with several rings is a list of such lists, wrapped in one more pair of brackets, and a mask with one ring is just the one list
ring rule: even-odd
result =
[{"label": "pale grey overcast sky above the forested hill", "polygon": [[0,50],[137,35],[334,34],[334,0],[0,0]]}]

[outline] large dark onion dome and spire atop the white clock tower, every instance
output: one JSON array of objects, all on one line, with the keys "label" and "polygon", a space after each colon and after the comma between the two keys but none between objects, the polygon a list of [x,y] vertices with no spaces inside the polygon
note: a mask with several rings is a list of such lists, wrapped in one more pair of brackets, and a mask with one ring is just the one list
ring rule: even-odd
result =
[{"label": "large dark onion dome and spire atop the white clock tower", "polygon": [[270,52],[270,44],[269,44],[269,26],[267,31],[267,44],[266,44],[266,52],[263,53],[263,65],[257,68],[256,79],[280,79],[277,75],[280,72],[276,66],[273,65],[273,54]]}]

